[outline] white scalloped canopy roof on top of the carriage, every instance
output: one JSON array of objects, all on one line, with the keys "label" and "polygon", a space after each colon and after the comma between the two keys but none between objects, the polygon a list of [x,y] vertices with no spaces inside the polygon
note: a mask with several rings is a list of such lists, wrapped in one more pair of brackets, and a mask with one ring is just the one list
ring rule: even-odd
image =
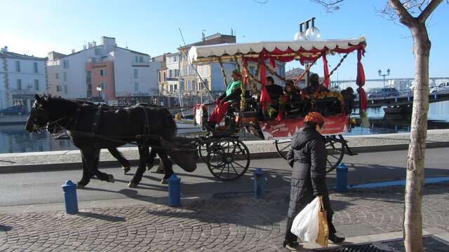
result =
[{"label": "white scalloped canopy roof on top of the carriage", "polygon": [[365,36],[351,39],[331,39],[323,41],[274,41],[274,42],[255,42],[255,43],[222,43],[217,45],[192,46],[189,50],[189,59],[196,62],[198,59],[208,57],[221,57],[223,55],[251,54],[259,53],[263,49],[273,52],[276,48],[285,51],[290,48],[293,51],[311,50],[313,48],[323,50],[333,50],[335,48],[347,49],[351,45],[365,43]]}]

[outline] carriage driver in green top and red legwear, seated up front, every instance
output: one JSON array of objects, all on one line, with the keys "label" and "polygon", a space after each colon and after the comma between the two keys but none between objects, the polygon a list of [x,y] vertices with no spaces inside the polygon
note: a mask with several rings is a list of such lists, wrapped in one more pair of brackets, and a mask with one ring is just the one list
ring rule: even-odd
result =
[{"label": "carriage driver in green top and red legwear, seated up front", "polygon": [[208,120],[208,127],[215,129],[215,126],[220,124],[225,114],[228,112],[232,104],[240,102],[241,98],[241,72],[238,69],[232,71],[232,83],[226,87],[226,92],[215,100],[215,109],[210,113]]}]

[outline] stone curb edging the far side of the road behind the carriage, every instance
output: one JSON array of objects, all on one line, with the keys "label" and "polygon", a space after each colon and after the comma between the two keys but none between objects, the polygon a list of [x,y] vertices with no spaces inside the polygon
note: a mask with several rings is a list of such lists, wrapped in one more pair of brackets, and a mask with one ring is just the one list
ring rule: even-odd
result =
[{"label": "stone curb edging the far side of the road behind the carriage", "polygon": [[[445,148],[449,147],[449,142],[429,142],[426,148]],[[404,151],[408,150],[408,144],[394,144],[384,146],[360,146],[351,147],[351,151],[354,153],[376,153],[384,151]],[[276,152],[263,152],[263,153],[250,153],[252,160],[265,159],[265,158],[279,158]],[[131,166],[138,165],[139,160],[129,160]],[[196,162],[202,163],[201,158]],[[159,158],[156,158],[155,165],[159,165]],[[51,163],[51,164],[39,164],[39,165],[11,165],[0,167],[0,174],[14,174],[14,173],[26,173],[26,172],[51,172],[51,171],[65,171],[65,170],[81,170],[83,166],[82,162],[66,162],[66,163]],[[98,162],[99,168],[106,168],[112,166],[119,166],[120,164],[116,160],[105,160]]]}]

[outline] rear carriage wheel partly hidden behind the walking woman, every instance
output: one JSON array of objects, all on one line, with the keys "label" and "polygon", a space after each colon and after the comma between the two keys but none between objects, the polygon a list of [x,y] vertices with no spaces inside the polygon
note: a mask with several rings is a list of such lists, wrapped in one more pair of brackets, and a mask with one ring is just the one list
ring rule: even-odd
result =
[{"label": "rear carriage wheel partly hidden behind the walking woman", "polygon": [[[326,137],[326,151],[328,151],[328,159],[326,160],[326,172],[332,172],[344,156],[344,145],[342,137],[327,136]],[[290,141],[274,141],[276,151],[279,157],[286,159],[287,152],[290,151]]]}]

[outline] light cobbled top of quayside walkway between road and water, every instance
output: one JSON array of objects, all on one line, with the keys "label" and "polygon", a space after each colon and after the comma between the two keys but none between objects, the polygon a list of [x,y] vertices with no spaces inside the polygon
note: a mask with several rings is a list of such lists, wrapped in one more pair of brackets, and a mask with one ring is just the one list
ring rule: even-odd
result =
[{"label": "light cobbled top of quayside walkway between road and water", "polygon": [[[380,134],[347,138],[349,147],[389,146],[408,144],[409,134]],[[427,142],[449,142],[449,130],[429,130]],[[267,141],[246,142],[250,153],[276,152],[274,144]],[[138,160],[137,148],[121,148],[120,151],[128,160]],[[100,153],[101,161],[115,160],[107,150]],[[5,153],[0,154],[0,168],[11,165],[42,165],[53,163],[81,162],[79,151],[51,151],[44,153]]]}]

